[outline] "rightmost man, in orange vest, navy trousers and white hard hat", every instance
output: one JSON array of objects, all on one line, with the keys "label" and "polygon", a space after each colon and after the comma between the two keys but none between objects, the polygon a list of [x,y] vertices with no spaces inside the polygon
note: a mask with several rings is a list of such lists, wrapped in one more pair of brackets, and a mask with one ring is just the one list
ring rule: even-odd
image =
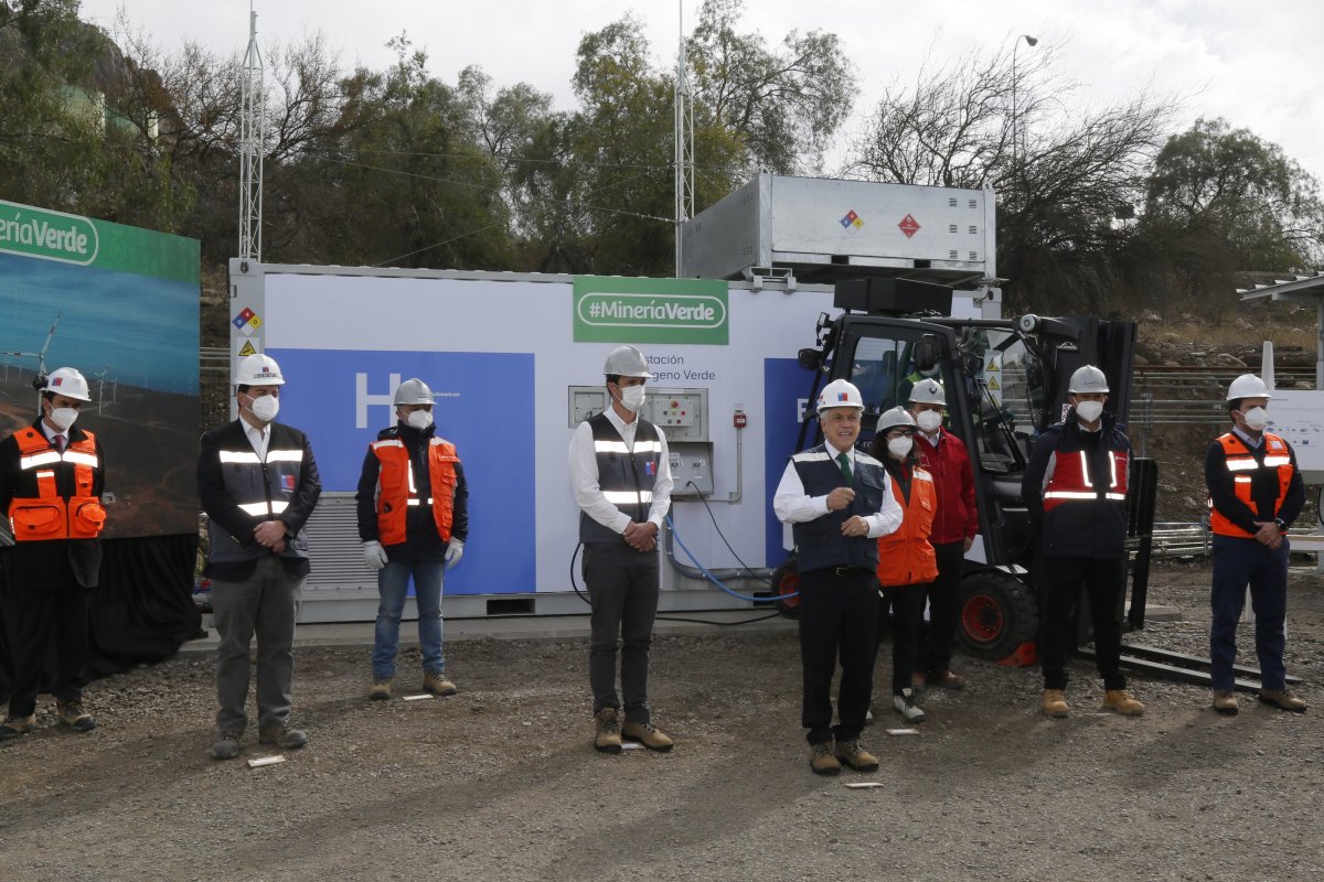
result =
[{"label": "rightmost man, in orange vest, navy trousers and white hard hat", "polygon": [[1214,618],[1209,632],[1214,710],[1237,713],[1237,621],[1250,586],[1255,610],[1255,655],[1259,700],[1304,713],[1305,702],[1287,689],[1283,665],[1287,618],[1287,530],[1301,513],[1305,488],[1296,454],[1268,426],[1268,387],[1255,374],[1242,374],[1227,387],[1233,428],[1209,446],[1209,529],[1213,530]]}]

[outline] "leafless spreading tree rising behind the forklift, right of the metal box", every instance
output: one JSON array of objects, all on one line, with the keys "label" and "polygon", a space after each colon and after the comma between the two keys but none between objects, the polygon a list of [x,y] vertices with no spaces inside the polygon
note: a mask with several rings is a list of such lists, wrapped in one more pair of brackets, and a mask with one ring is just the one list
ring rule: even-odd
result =
[{"label": "leafless spreading tree rising behind the forklift, right of the metal box", "polygon": [[1008,49],[972,54],[886,89],[847,168],[867,180],[993,185],[1009,303],[1111,312],[1132,291],[1139,254],[1116,214],[1141,201],[1176,100],[1141,94],[1066,115],[1075,85],[1051,75],[1051,48],[1017,61],[1013,70]]}]

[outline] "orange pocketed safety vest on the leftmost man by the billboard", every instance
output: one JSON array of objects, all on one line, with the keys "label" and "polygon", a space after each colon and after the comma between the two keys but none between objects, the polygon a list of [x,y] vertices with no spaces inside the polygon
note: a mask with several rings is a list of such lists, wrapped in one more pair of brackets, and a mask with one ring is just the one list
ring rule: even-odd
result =
[{"label": "orange pocketed safety vest on the leftmost man by the billboard", "polygon": [[[49,540],[94,540],[106,525],[106,509],[93,496],[101,458],[91,432],[71,440],[61,454],[32,426],[15,432],[19,442],[19,471],[34,471],[37,496],[16,496],[9,502],[9,524],[16,542]],[[68,500],[56,487],[57,463],[74,467],[74,495]],[[49,467],[49,468],[48,468]]]}]

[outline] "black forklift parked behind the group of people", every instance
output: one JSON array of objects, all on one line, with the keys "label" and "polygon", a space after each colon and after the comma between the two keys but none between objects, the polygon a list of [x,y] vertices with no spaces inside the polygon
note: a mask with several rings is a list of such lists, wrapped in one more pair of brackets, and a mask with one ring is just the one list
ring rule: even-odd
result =
[{"label": "black forklift parked behind the group of people", "polygon": [[[1067,385],[1083,365],[1108,380],[1108,407],[1123,427],[1131,403],[1133,321],[1088,316],[1014,319],[951,317],[952,288],[902,278],[842,279],[834,307],[822,313],[816,345],[798,362],[813,374],[808,401],[833,380],[849,380],[865,402],[857,446],[867,447],[878,417],[907,406],[910,389],[933,377],[947,391],[947,424],[970,455],[980,533],[967,553],[957,639],[964,652],[1004,665],[1035,661],[1039,586],[1035,584],[1035,530],[1021,497],[1021,477],[1038,435],[1062,422]],[[796,450],[822,434],[806,407]],[[806,443],[808,442],[808,443]],[[1145,624],[1157,463],[1132,459],[1128,480],[1128,566],[1124,632]],[[794,555],[773,573],[784,611],[793,612],[798,588]],[[1090,655],[1088,604],[1078,604],[1080,655]],[[1117,611],[1119,619],[1123,610]],[[1209,682],[1207,660],[1149,647],[1123,645],[1123,664],[1189,682]],[[1258,670],[1237,668],[1238,688],[1256,689]]]}]

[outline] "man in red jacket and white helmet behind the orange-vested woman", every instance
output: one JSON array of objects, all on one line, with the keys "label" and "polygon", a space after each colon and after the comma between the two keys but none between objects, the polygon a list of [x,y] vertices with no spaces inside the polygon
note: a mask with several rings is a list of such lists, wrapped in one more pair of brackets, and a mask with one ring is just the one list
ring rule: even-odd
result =
[{"label": "man in red jacket and white helmet behind the orange-vested woman", "polygon": [[911,386],[910,413],[915,418],[915,452],[933,477],[937,510],[929,542],[937,557],[937,578],[928,583],[928,629],[922,632],[915,688],[963,689],[965,680],[952,672],[952,640],[961,608],[961,571],[965,553],[980,532],[974,502],[974,471],[965,443],[943,428],[947,393],[931,377]]}]

